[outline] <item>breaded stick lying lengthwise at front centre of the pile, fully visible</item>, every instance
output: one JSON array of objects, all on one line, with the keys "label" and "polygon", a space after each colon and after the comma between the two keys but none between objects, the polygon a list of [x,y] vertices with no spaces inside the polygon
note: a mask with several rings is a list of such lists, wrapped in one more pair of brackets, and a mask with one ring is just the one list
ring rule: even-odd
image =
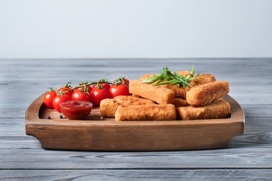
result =
[{"label": "breaded stick lying lengthwise at front centre of the pile, fully visible", "polygon": [[115,112],[115,120],[176,120],[176,108],[173,104],[121,106]]}]

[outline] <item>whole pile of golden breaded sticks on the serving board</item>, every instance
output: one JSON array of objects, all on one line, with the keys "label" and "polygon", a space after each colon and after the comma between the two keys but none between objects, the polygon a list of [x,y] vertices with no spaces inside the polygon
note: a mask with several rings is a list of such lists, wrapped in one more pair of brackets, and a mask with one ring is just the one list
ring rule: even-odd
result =
[{"label": "whole pile of golden breaded sticks on the serving board", "polygon": [[[176,72],[187,76],[189,71]],[[227,118],[230,105],[222,99],[229,93],[227,81],[216,81],[212,74],[199,74],[190,86],[176,84],[153,86],[142,81],[146,74],[130,81],[131,95],[100,102],[100,113],[115,120],[200,120]]]}]

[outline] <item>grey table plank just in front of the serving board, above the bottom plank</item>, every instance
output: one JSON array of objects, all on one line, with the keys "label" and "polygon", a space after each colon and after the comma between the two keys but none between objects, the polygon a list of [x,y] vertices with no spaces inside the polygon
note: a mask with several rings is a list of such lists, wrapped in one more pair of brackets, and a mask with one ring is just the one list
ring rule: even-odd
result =
[{"label": "grey table plank just in front of the serving board, above the bottom plank", "polygon": [[70,152],[31,147],[1,149],[0,170],[272,168],[271,145],[269,149],[256,145],[182,152]]}]

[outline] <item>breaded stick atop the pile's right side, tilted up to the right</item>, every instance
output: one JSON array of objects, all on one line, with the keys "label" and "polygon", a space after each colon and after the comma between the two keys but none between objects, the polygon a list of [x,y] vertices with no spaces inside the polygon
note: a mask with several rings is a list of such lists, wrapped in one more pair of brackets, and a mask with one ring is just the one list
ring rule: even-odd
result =
[{"label": "breaded stick atop the pile's right side, tilted up to the right", "polygon": [[203,107],[227,93],[229,93],[227,81],[214,81],[190,88],[190,91],[186,93],[186,100],[193,107]]}]

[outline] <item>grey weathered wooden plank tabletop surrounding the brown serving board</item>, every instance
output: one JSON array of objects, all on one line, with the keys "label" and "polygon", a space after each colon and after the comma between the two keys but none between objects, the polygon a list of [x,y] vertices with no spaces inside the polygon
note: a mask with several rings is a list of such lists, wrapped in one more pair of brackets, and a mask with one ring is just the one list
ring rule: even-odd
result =
[{"label": "grey weathered wooden plank tabletop surrounding the brown serving board", "polygon": [[[245,132],[229,147],[169,152],[44,150],[25,112],[50,87],[72,81],[190,70],[229,82]],[[272,58],[0,59],[0,180],[271,180]]]}]

